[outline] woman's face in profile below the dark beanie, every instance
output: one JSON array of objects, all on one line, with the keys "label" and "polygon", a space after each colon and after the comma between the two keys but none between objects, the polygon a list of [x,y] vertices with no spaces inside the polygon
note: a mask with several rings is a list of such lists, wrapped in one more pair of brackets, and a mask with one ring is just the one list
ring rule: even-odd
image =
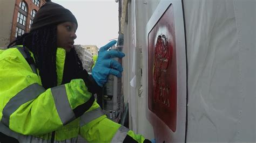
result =
[{"label": "woman's face in profile below the dark beanie", "polygon": [[57,47],[64,48],[66,52],[74,47],[77,25],[72,22],[60,23],[57,25]]}]

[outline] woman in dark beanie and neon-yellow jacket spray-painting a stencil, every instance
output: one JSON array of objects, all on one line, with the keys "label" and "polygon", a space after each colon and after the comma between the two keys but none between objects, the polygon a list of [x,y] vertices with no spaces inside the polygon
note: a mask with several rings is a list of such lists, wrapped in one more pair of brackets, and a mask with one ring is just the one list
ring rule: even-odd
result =
[{"label": "woman in dark beanie and neon-yellow jacket spray-painting a stencil", "polygon": [[107,75],[121,76],[110,58],[124,53],[107,51],[116,41],[100,48],[89,76],[73,48],[77,26],[68,9],[48,2],[31,31],[1,52],[0,142],[76,142],[78,134],[88,142],[150,142],[107,119],[92,96]]}]

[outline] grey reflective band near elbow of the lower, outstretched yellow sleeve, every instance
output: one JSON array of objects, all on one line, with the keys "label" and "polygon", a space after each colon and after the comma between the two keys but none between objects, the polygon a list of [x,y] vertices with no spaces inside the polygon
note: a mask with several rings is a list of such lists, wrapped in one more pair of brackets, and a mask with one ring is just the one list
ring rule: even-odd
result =
[{"label": "grey reflective band near elbow of the lower, outstretched yellow sleeve", "polygon": [[85,124],[89,123],[92,120],[95,120],[96,118],[103,116],[104,113],[101,108],[97,108],[95,110],[89,111],[84,113],[80,117],[80,127],[84,126]]}]

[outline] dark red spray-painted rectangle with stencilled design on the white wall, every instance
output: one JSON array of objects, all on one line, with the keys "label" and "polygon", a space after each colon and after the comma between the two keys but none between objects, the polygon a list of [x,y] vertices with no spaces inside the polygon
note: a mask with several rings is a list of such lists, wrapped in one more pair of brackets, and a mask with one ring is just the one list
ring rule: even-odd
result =
[{"label": "dark red spray-painted rectangle with stencilled design on the white wall", "polygon": [[152,28],[149,46],[149,109],[173,132],[177,122],[177,61],[173,6]]}]

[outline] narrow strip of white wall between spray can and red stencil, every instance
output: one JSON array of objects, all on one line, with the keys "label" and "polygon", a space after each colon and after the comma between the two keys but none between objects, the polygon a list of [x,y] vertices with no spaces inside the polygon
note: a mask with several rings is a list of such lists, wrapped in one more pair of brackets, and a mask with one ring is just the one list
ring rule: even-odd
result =
[{"label": "narrow strip of white wall between spray can and red stencil", "polygon": [[[125,99],[129,99],[130,129],[134,132],[143,134],[146,138],[154,138],[153,127],[146,119],[146,97],[143,94],[141,84],[141,68],[143,67],[143,57],[140,51],[145,48],[145,26],[150,19],[159,0],[150,1],[131,1],[128,4],[128,22],[124,27],[124,48],[126,56],[123,58],[123,87]],[[135,58],[133,58],[135,51]],[[135,59],[135,63],[133,62]],[[134,64],[135,65],[134,65]],[[135,71],[132,67],[135,66]],[[132,87],[130,81],[136,75],[136,85]]]}]

